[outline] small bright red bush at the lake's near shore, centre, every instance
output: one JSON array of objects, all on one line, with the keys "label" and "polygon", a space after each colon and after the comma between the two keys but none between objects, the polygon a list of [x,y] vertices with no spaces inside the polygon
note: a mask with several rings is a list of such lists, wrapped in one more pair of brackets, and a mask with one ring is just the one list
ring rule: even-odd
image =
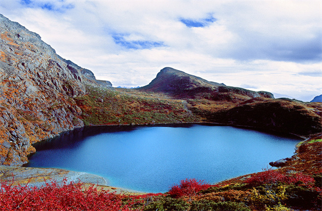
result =
[{"label": "small bright red bush at the lake's near shore, centre", "polygon": [[204,180],[188,179],[181,180],[180,185],[174,184],[169,190],[172,197],[179,198],[181,196],[196,195],[200,190],[210,187],[210,184],[205,183]]}]

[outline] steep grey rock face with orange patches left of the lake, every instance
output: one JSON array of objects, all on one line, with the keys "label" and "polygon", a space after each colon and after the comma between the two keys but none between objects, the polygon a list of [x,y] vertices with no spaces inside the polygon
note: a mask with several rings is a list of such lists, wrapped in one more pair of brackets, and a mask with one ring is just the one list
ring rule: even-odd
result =
[{"label": "steep grey rock face with orange patches left of the lake", "polygon": [[0,15],[0,164],[20,165],[37,141],[83,127],[73,97],[111,87],[62,59],[36,33]]}]

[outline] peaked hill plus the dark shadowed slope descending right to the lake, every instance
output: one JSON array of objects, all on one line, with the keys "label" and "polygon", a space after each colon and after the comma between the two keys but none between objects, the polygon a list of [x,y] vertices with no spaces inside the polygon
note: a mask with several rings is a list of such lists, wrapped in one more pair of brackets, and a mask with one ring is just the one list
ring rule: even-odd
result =
[{"label": "peaked hill plus the dark shadowed slope descending right to the lake", "polygon": [[205,122],[248,126],[308,136],[321,132],[322,108],[288,98],[274,99],[266,91],[252,91],[209,82],[166,67],[142,92],[164,93],[187,101],[186,108]]}]

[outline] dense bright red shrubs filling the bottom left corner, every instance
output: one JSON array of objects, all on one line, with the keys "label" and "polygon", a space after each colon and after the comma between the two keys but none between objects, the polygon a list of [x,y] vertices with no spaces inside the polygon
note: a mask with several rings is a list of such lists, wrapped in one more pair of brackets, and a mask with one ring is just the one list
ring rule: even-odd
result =
[{"label": "dense bright red shrubs filling the bottom left corner", "polygon": [[66,180],[46,183],[42,187],[13,186],[2,182],[0,207],[2,210],[130,210],[131,202],[124,205],[121,197],[90,186],[83,190],[82,183]]}]

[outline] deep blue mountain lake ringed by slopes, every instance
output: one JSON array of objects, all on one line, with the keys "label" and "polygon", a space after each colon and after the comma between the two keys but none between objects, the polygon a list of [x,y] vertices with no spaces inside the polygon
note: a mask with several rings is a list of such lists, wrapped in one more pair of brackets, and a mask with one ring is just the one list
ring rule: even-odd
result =
[{"label": "deep blue mountain lake ringed by slopes", "polygon": [[298,142],[230,126],[86,127],[35,144],[27,166],[84,171],[111,186],[166,192],[185,178],[215,183],[261,171],[292,156]]}]

